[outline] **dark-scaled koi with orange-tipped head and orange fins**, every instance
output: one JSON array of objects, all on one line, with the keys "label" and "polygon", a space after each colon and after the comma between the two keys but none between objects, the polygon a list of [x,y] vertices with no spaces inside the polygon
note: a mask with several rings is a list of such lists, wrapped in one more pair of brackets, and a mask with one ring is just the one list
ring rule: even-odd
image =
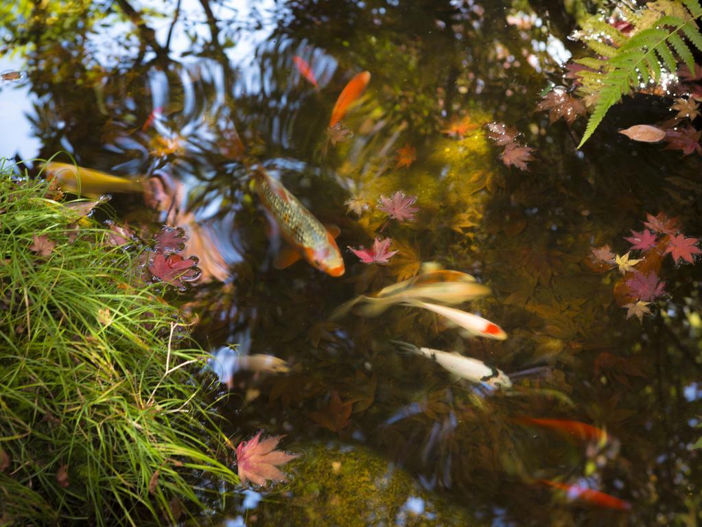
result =
[{"label": "dark-scaled koi with orange-tipped head and orange fins", "polygon": [[260,197],[280,235],[289,247],[283,248],[273,263],[276,269],[284,269],[305,258],[307,262],[331,276],[344,274],[344,260],[336,241],[338,227],[327,229],[314,215],[278,181],[270,177],[263,168],[253,173],[256,193]]}]

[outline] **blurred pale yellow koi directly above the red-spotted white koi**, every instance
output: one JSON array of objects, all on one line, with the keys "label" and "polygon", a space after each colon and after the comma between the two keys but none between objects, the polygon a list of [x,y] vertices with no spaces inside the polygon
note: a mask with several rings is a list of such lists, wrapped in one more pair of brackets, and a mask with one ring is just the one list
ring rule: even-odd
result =
[{"label": "blurred pale yellow koi directly above the red-spotted white koi", "polygon": [[393,283],[371,295],[359,295],[340,305],[332,314],[332,319],[340,318],[359,303],[366,304],[361,309],[362,315],[377,316],[391,305],[410,300],[432,300],[453,305],[485,296],[489,292],[489,288],[477,283],[470,274],[440,269]]}]

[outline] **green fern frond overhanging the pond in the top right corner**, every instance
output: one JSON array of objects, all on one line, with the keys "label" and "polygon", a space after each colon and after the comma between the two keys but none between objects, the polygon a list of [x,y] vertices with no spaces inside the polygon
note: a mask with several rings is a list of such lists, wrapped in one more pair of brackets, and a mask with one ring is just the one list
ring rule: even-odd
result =
[{"label": "green fern frond overhanging the pond in the top right corner", "polygon": [[[656,0],[636,13],[635,18],[628,19],[635,29],[625,40],[618,39],[621,33],[602,31],[599,15],[583,25],[583,32],[585,26],[595,30],[589,33],[589,39],[585,32],[583,40],[600,57],[576,61],[597,70],[580,72],[580,92],[593,95],[597,102],[578,148],[585,144],[609,109],[624,95],[647,86],[651,80],[661,81],[663,67],[675,72],[678,62],[682,61],[691,71],[694,70],[690,44],[702,51],[702,33],[696,22],[701,17],[702,6],[698,0]],[[602,34],[607,35],[607,43],[597,40]]]}]

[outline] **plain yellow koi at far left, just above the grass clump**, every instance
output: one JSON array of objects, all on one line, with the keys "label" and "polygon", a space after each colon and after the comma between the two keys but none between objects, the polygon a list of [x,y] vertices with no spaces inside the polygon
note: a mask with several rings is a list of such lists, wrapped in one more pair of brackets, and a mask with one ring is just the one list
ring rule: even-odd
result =
[{"label": "plain yellow koi at far left, just above the grass clump", "polygon": [[120,178],[82,166],[51,161],[44,165],[47,175],[52,175],[62,189],[82,196],[98,197],[106,192],[142,192],[139,180]]}]

